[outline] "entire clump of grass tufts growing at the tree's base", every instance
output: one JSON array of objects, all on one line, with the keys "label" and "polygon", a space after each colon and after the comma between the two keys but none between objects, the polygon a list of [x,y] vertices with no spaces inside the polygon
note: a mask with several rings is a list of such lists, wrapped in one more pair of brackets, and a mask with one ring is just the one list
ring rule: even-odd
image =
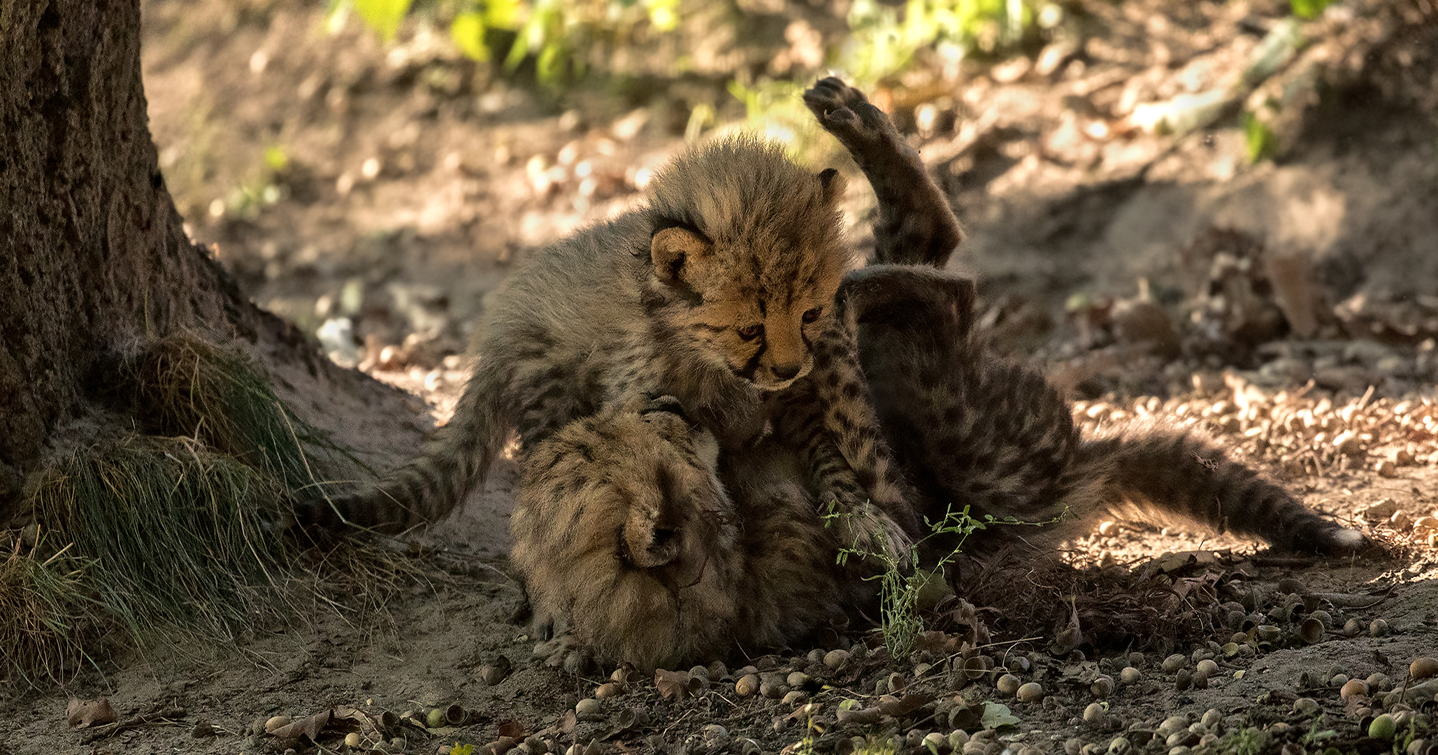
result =
[{"label": "entire clump of grass tufts growing at the tree's base", "polygon": [[46,536],[0,562],[0,674],[73,669],[95,654],[95,630],[118,626],[139,646],[227,641],[289,611],[288,495],[313,483],[315,452],[345,453],[253,362],[194,334],[147,339],[93,372],[139,431],[27,480]]}]

